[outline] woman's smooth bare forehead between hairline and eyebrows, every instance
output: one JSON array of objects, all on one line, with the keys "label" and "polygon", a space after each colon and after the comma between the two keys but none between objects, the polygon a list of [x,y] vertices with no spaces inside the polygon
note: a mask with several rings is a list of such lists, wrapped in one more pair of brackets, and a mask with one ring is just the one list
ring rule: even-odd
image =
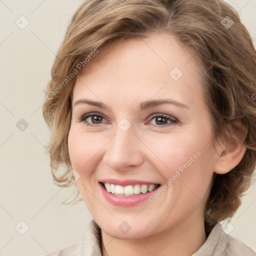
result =
[{"label": "woman's smooth bare forehead between hairline and eyebrows", "polygon": [[83,93],[95,100],[99,96],[110,101],[114,98],[120,104],[127,98],[142,101],[154,95],[170,95],[192,103],[195,97],[203,97],[200,68],[193,56],[171,35],[112,42],[99,49],[82,70],[74,87],[74,100]]}]

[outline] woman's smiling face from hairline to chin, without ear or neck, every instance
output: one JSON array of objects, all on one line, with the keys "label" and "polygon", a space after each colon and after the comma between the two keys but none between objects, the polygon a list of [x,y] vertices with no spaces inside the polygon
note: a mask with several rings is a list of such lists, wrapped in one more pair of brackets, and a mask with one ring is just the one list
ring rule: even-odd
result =
[{"label": "woman's smiling face from hairline to chin, without ear or neck", "polygon": [[104,54],[77,77],[68,136],[92,217],[124,239],[203,221],[216,152],[193,54],[163,34]]}]

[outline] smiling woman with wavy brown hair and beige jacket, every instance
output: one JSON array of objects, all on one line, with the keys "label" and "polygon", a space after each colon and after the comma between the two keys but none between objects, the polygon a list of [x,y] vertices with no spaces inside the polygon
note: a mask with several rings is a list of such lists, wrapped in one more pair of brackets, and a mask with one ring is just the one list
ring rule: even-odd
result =
[{"label": "smiling woman with wavy brown hair and beige jacket", "polygon": [[93,217],[79,242],[51,255],[255,255],[219,223],[239,207],[256,160],[256,52],[234,9],[85,1],[51,76],[54,181],[75,179]]}]

